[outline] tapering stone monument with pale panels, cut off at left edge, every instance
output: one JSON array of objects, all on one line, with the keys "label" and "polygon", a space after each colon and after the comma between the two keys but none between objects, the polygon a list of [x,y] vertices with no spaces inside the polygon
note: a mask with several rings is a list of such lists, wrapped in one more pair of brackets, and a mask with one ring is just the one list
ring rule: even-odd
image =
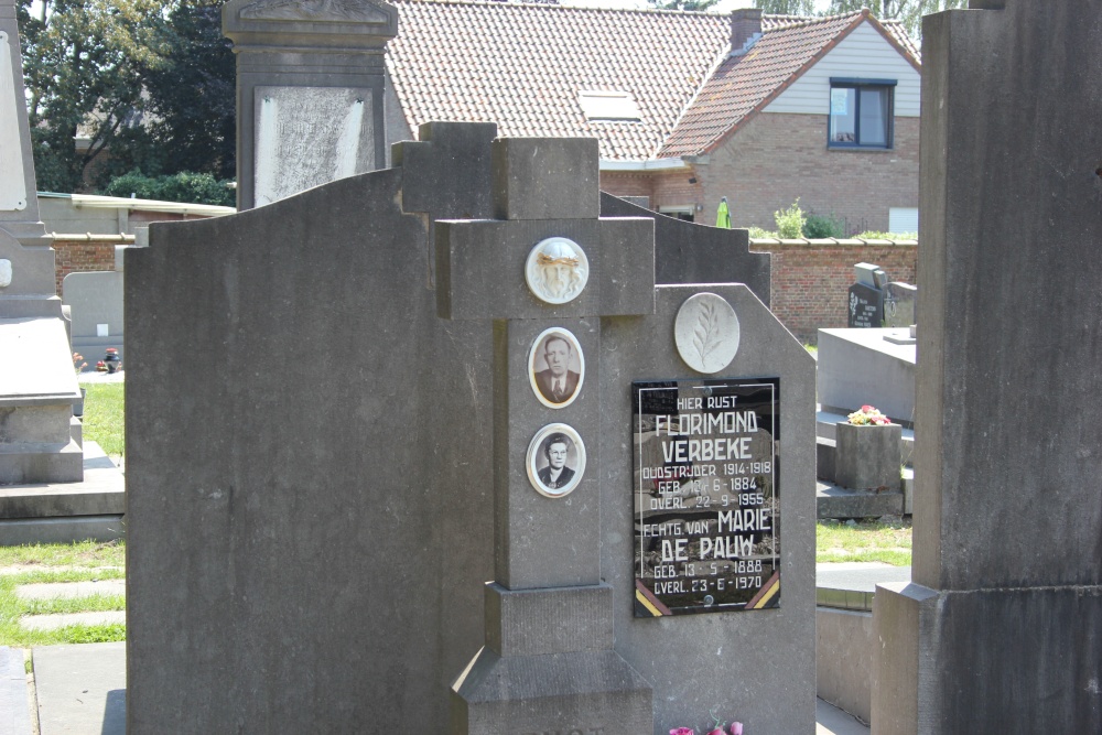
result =
[{"label": "tapering stone monument with pale panels, cut off at left edge", "polygon": [[15,6],[0,0],[0,485],[84,476],[72,426],[79,398],[39,219]]}]

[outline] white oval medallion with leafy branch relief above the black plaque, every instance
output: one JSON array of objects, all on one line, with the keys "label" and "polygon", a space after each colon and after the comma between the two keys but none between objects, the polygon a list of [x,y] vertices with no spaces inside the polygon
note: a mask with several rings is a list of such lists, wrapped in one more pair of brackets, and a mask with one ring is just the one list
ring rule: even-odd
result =
[{"label": "white oval medallion with leafy branch relief above the black plaque", "polygon": [[719,372],[738,352],[738,317],[726,299],[698,293],[678,310],[673,336],[685,365],[698,372]]}]

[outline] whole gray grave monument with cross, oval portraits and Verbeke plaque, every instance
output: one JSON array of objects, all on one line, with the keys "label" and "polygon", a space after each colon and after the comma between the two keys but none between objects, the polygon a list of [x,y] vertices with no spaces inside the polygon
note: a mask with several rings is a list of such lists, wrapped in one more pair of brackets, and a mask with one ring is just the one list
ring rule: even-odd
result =
[{"label": "whole gray grave monument with cross, oval portraits and Verbeke plaque", "polygon": [[127,253],[131,732],[813,727],[813,360],[493,133]]}]

